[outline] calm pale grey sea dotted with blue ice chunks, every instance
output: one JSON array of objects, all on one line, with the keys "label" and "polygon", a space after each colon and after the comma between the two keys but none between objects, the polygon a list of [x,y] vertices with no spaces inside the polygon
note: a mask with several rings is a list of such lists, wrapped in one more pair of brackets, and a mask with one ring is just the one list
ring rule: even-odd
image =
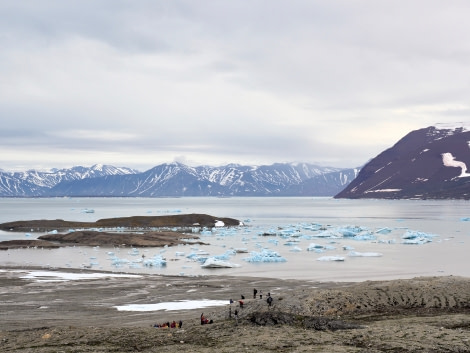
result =
[{"label": "calm pale grey sea dotted with blue ice chunks", "polygon": [[[86,212],[93,210],[93,213]],[[166,275],[240,275],[322,281],[361,281],[415,276],[470,277],[470,203],[466,201],[335,200],[331,198],[53,198],[0,199],[0,223],[16,220],[95,221],[136,215],[206,213],[237,218],[244,227],[204,232],[207,246],[165,249],[67,247],[56,250],[0,251],[0,266],[93,268]],[[318,237],[321,229],[362,227],[367,240]],[[387,228],[388,232],[383,232]],[[421,232],[430,242],[403,244],[407,231]],[[277,236],[263,236],[277,233]],[[291,237],[295,235],[295,237]],[[0,240],[34,239],[30,233],[0,232]],[[432,236],[432,237],[431,237]],[[315,243],[323,252],[307,251]],[[203,269],[187,256],[206,252],[224,255],[239,267]],[[252,252],[270,249],[285,262],[252,263]],[[363,256],[350,256],[351,252]],[[381,256],[370,256],[374,255]],[[145,259],[162,256],[165,267],[147,267]],[[364,256],[369,255],[369,256]],[[319,261],[322,257],[344,261]],[[122,260],[119,265],[116,259]]]}]

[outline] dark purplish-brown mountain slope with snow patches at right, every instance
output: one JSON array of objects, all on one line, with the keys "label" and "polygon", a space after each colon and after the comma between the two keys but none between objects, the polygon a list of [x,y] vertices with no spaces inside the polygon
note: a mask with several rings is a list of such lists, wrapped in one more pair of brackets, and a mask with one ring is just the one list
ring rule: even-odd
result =
[{"label": "dark purplish-brown mountain slope with snow patches at right", "polygon": [[367,163],[335,198],[470,199],[469,142],[463,127],[412,131]]}]

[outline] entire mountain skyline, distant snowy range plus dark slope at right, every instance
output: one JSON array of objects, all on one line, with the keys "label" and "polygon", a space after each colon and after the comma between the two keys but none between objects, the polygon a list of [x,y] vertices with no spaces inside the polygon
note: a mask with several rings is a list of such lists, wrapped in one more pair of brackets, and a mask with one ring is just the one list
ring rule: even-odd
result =
[{"label": "entire mountain skyline, distant snowy range plus dark slope at right", "polygon": [[0,197],[334,196],[470,199],[470,129],[436,124],[411,131],[362,168],[307,163],[190,167],[145,172],[109,165],[47,172],[0,171]]}]

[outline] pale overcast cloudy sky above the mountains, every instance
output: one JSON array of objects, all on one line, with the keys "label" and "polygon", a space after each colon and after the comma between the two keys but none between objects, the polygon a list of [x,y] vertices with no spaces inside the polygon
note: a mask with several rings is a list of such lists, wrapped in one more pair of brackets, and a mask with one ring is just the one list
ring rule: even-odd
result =
[{"label": "pale overcast cloudy sky above the mountains", "polygon": [[0,1],[0,169],[360,167],[469,121],[470,2]]}]

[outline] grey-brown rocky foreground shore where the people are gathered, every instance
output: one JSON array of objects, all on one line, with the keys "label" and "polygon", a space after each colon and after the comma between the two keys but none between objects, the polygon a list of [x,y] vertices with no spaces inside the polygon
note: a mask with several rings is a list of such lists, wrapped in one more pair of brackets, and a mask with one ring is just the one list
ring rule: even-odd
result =
[{"label": "grey-brown rocky foreground shore where the people are gathered", "polygon": [[[470,352],[468,278],[21,278],[30,270],[0,271],[1,352]],[[253,288],[264,298],[253,299]],[[247,298],[242,309],[241,295]],[[223,299],[227,305],[158,312],[114,308],[187,299]],[[232,314],[240,312],[238,324],[229,317],[230,306]],[[213,324],[200,325],[202,311]],[[182,320],[183,327],[152,327],[172,320]]]}]

